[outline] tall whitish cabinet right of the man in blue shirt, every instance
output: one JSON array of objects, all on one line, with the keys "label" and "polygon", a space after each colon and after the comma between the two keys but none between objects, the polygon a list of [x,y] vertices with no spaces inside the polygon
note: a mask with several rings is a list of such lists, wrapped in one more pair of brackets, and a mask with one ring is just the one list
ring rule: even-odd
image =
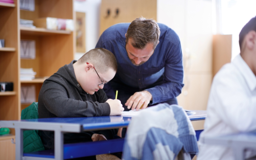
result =
[{"label": "tall whitish cabinet right of the man in blue shirt", "polygon": [[185,84],[178,103],[205,110],[212,83],[212,7],[209,0],[157,0],[157,22],[180,37]]}]

